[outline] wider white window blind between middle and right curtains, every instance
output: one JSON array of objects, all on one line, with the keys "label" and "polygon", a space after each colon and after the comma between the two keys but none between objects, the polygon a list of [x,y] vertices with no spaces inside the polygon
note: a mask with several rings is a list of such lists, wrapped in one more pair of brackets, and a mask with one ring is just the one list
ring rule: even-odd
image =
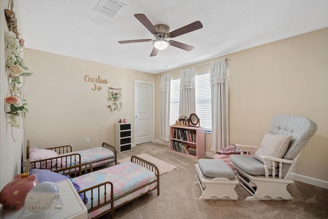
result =
[{"label": "wider white window blind between middle and right curtains", "polygon": [[200,120],[200,126],[205,131],[212,131],[212,102],[210,72],[196,74],[195,78],[196,114]]}]

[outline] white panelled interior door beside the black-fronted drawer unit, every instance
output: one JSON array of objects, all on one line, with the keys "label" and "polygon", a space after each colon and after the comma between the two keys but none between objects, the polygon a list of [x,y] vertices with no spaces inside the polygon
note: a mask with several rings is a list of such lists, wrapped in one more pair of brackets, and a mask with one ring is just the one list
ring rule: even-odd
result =
[{"label": "white panelled interior door beside the black-fronted drawer unit", "polygon": [[154,136],[154,83],[134,82],[134,142],[152,142]]}]

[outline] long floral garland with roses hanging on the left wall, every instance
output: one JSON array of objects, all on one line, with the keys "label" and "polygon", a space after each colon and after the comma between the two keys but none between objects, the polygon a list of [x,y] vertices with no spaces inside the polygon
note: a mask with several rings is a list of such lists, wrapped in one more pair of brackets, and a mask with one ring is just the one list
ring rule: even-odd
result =
[{"label": "long floral garland with roses hanging on the left wall", "polygon": [[[22,47],[24,39],[18,38],[18,34],[9,31],[6,38],[6,66],[8,70],[8,95],[5,98],[7,104],[8,124],[12,128],[24,128],[23,118],[28,113],[27,101],[24,98],[26,87],[24,86],[25,76],[31,76],[32,73],[26,72],[29,68],[26,66]],[[13,137],[13,135],[12,135]],[[14,137],[13,140],[15,141]]]}]

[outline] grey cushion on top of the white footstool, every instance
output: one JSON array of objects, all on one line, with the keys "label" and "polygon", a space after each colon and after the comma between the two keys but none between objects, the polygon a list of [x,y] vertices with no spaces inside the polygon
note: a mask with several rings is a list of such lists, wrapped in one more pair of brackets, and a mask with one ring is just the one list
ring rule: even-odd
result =
[{"label": "grey cushion on top of the white footstool", "polygon": [[199,159],[201,172],[208,177],[235,178],[232,169],[220,159]]}]

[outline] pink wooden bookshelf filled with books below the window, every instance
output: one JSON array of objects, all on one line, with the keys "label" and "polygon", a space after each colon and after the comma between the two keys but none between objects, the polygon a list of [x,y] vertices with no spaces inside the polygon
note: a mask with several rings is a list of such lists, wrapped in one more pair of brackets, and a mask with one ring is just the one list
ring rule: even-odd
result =
[{"label": "pink wooden bookshelf filled with books below the window", "polygon": [[170,126],[170,151],[193,159],[200,159],[204,157],[204,128]]}]

